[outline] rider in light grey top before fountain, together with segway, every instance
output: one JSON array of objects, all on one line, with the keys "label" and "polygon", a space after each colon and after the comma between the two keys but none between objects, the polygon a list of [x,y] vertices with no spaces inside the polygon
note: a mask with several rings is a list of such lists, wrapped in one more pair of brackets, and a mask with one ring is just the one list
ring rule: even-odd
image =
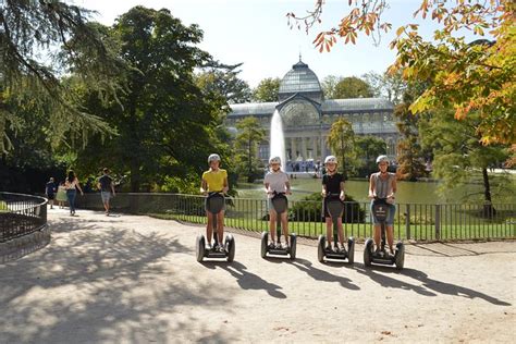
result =
[{"label": "rider in light grey top before fountain, together with segway", "polygon": [[[269,244],[269,232],[261,233],[261,257],[267,255],[290,256],[291,259],[296,258],[296,235],[288,235],[287,209],[288,200],[285,195],[291,194],[291,184],[288,175],[281,171],[280,157],[269,159],[270,171],[266,174],[263,184],[267,193],[269,208],[269,228],[271,243]],[[285,244],[281,243],[281,232],[285,237]],[[274,233],[278,231],[277,233]],[[278,235],[277,239],[274,234]],[[288,243],[290,242],[290,243]]]}]

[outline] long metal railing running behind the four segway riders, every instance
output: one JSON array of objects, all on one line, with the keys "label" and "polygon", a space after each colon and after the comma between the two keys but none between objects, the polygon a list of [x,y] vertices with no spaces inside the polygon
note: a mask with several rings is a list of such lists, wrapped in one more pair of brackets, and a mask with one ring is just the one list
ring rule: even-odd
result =
[{"label": "long metal railing running behind the four segway riders", "polygon": [[[102,209],[100,195],[77,198],[77,206]],[[204,197],[182,194],[118,194],[114,210],[151,214],[191,223],[206,223]],[[398,204],[394,232],[398,239],[446,241],[516,237],[516,205],[492,205],[486,214],[483,205]],[[307,237],[325,233],[321,217],[322,201],[297,200],[288,204],[291,232]],[[369,202],[345,202],[343,226],[346,236],[366,238],[372,235]],[[266,199],[228,198],[225,225],[248,231],[269,228]]]}]

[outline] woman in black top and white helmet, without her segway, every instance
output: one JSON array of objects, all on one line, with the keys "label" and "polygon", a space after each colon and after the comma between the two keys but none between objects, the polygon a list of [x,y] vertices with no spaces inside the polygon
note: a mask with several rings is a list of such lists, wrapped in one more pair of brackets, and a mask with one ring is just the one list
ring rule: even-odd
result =
[{"label": "woman in black top and white helmet, without her segway", "polygon": [[[341,201],[344,201],[344,176],[336,172],[336,158],[334,156],[328,156],[324,159],[324,167],[327,169],[327,174],[322,177],[322,198],[331,195],[331,198],[335,197],[339,198]],[[324,212],[324,218],[327,222],[327,238],[328,238],[328,247],[327,249],[332,249],[331,241],[333,238],[332,234],[332,218],[331,214],[328,212],[325,201],[322,202],[322,208]],[[344,231],[342,229],[342,213],[337,219],[337,234],[339,234],[339,243],[341,244],[341,248],[344,248]]]}]

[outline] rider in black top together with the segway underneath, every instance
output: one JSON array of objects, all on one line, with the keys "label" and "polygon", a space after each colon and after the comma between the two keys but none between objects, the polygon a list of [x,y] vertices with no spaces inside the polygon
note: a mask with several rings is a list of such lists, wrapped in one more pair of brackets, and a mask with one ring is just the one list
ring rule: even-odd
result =
[{"label": "rider in black top together with the segway underneath", "polygon": [[[347,239],[347,250],[344,247],[344,231],[342,214],[344,212],[344,176],[336,171],[337,161],[334,156],[324,159],[327,174],[322,177],[323,213],[327,223],[327,235],[319,235],[318,259],[347,259],[351,263],[355,257],[355,239]],[[333,239],[333,247],[332,247]],[[325,245],[328,241],[328,246]],[[339,245],[340,244],[340,245]]]}]

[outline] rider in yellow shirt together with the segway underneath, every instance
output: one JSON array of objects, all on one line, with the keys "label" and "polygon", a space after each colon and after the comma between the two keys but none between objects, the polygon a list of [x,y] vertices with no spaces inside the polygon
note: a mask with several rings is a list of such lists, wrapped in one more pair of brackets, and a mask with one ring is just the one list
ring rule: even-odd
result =
[{"label": "rider in yellow shirt together with the segway underneath", "polygon": [[[233,235],[228,234],[224,242],[224,194],[228,193],[228,172],[220,169],[219,155],[210,155],[208,157],[210,169],[202,173],[200,192],[206,195],[205,208],[208,223],[206,225],[206,236],[208,245],[202,234],[197,236],[196,253],[197,261],[206,258],[226,258],[233,261],[235,257],[235,241]],[[211,245],[211,236],[214,243]]]}]

